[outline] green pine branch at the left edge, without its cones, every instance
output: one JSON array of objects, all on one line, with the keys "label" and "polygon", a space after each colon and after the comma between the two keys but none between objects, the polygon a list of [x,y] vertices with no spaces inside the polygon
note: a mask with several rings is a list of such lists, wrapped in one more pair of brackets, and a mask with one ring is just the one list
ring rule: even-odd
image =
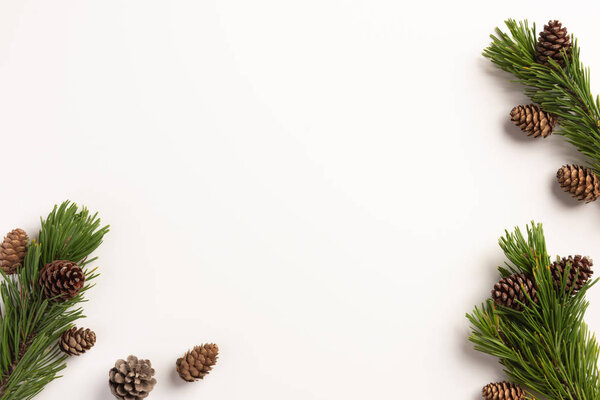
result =
[{"label": "green pine branch at the left edge, without its cones", "polygon": [[[96,214],[68,201],[56,206],[41,225],[18,274],[7,276],[0,270],[0,400],[31,399],[65,368],[66,357],[56,342],[84,317],[79,305],[93,286],[89,282],[98,276],[88,268],[95,260],[89,256],[108,232]],[[84,270],[86,285],[71,300],[47,299],[38,284],[41,268],[54,260],[73,261]]]}]

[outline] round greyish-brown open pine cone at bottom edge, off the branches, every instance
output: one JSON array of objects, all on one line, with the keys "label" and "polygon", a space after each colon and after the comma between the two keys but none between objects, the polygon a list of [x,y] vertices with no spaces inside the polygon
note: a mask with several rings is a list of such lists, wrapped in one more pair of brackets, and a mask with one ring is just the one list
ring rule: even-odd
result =
[{"label": "round greyish-brown open pine cone at bottom edge, off the branches", "polygon": [[117,399],[137,400],[148,397],[156,379],[150,360],[138,360],[136,356],[117,360],[108,374],[110,391]]}]

